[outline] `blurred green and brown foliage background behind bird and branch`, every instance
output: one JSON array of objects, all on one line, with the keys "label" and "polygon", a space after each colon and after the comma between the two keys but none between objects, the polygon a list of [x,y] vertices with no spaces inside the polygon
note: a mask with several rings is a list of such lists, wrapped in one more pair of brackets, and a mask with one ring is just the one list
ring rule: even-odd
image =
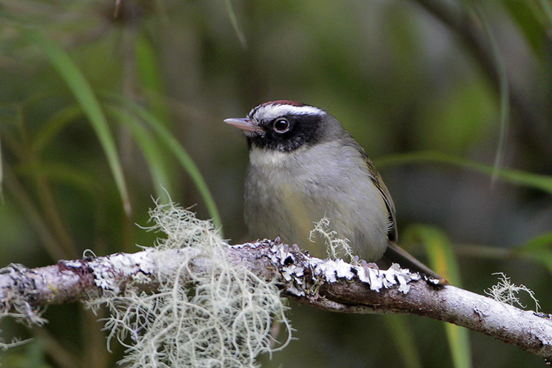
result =
[{"label": "blurred green and brown foliage background behind bird and branch", "polygon": [[[244,136],[265,101],[324,108],[386,181],[403,247],[483,294],[495,272],[552,311],[552,4],[501,1],[0,1],[0,267],[152,245],[152,197],[243,220]],[[535,305],[527,295],[522,303]],[[535,367],[415,316],[291,304],[263,367]],[[4,367],[115,367],[81,305],[3,320]]]}]

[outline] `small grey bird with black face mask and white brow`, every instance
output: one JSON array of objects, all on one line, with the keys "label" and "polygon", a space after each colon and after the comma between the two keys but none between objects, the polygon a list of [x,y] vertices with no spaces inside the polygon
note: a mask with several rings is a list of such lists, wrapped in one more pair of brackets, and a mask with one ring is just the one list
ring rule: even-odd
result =
[{"label": "small grey bird with black face mask and white brow", "polygon": [[249,147],[245,221],[252,236],[297,243],[324,258],[310,241],[314,223],[328,218],[339,238],[367,262],[399,263],[440,279],[398,247],[395,205],[366,152],[328,112],[295,101],[258,105],[225,123],[244,131]]}]

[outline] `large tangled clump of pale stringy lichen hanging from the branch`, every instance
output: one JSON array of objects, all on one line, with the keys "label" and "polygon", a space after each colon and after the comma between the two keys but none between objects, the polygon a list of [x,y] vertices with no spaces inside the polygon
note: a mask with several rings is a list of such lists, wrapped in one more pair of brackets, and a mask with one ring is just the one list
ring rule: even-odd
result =
[{"label": "large tangled clump of pale stringy lichen hanging from the branch", "polygon": [[[111,288],[106,295],[91,303],[105,303],[111,311],[106,322],[108,339],[116,338],[127,349],[121,364],[255,367],[259,354],[271,354],[289,342],[291,328],[275,283],[258,278],[246,267],[230,265],[224,256],[227,244],[213,223],[172,203],[157,205],[150,216],[154,225],[148,230],[166,234],[150,252],[156,264],[152,269],[157,267],[161,281],[159,289],[145,293],[126,287],[119,294],[108,283]],[[187,258],[179,258],[177,271],[164,273],[163,265],[173,260],[155,255],[167,254],[160,249],[178,252],[182,247],[195,248],[197,253],[181,252]],[[209,263],[208,271],[195,267],[201,262]],[[128,260],[124,267],[130,271],[134,263]],[[270,337],[273,320],[284,323],[288,331],[276,347]]]}]

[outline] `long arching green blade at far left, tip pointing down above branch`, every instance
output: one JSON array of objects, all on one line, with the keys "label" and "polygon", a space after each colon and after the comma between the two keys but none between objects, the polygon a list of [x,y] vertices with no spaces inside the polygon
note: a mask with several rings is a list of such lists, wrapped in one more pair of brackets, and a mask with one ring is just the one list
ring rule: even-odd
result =
[{"label": "long arching green blade at far left, tip pointing down above branch", "polygon": [[92,128],[96,132],[101,147],[103,148],[103,152],[108,159],[113,178],[115,178],[115,183],[117,184],[117,189],[119,190],[119,194],[121,194],[125,212],[130,214],[130,199],[128,198],[128,190],[126,188],[121,162],[117,155],[115,140],[110,132],[106,116],[103,114],[90,84],[65,50],[36,30],[23,30],[23,33],[29,41],[38,45],[46,54],[54,68],[59,72],[61,78],[66,82],[72,94],[77,99],[83,112],[88,117],[88,120],[92,124]]}]

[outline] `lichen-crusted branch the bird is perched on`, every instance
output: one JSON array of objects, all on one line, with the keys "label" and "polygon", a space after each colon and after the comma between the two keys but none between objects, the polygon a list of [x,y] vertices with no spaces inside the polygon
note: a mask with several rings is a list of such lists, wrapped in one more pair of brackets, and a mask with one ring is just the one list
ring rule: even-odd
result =
[{"label": "lichen-crusted branch the bird is perched on", "polygon": [[[379,270],[364,263],[320,260],[274,241],[228,247],[229,263],[259,277],[282,281],[282,295],[327,311],[357,314],[404,313],[444,320],[480,331],[550,362],[552,316],[523,311],[486,296],[412,274],[408,269]],[[37,320],[46,305],[86,300],[108,290],[124,292],[132,283],[155,291],[159,278],[175,272],[182,260],[207,270],[210,259],[197,248],[147,249],[135,254],[61,260],[27,269],[12,265],[0,274],[0,316]]]}]

